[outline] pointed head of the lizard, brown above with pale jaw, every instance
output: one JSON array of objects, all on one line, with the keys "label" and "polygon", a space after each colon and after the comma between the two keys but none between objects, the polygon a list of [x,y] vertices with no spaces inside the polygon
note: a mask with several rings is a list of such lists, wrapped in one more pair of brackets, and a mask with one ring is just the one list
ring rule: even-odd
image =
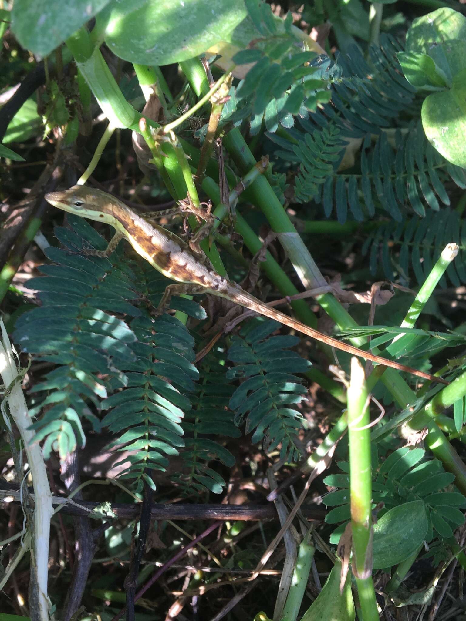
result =
[{"label": "pointed head of the lizard, brown above with pale jaw", "polygon": [[114,202],[109,194],[86,186],[73,186],[62,192],[49,192],[45,200],[54,207],[98,222],[114,222]]}]

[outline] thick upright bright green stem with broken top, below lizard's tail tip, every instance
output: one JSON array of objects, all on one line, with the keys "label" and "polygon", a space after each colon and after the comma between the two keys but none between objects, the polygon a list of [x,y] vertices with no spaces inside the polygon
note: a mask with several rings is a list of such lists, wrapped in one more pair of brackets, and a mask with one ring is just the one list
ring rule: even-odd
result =
[{"label": "thick upright bright green stem with broken top, below lizard's tail tip", "polygon": [[347,394],[351,527],[353,535],[352,571],[356,579],[362,618],[364,621],[375,621],[379,619],[379,616],[371,575],[372,467],[370,414],[364,369],[355,357],[351,359],[351,379]]}]

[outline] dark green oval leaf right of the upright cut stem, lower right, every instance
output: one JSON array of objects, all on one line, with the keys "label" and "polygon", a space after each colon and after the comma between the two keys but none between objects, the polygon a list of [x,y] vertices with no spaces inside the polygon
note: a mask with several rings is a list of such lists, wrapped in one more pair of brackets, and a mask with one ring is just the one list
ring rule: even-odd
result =
[{"label": "dark green oval leaf right of the upright cut stem, lower right", "polygon": [[405,502],[374,525],[373,569],[404,561],[422,545],[428,527],[423,501]]}]

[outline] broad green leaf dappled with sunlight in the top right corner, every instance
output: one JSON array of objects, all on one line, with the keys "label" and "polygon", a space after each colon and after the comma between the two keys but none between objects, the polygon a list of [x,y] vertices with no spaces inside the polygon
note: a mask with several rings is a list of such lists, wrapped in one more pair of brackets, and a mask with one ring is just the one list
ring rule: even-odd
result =
[{"label": "broad green leaf dappled with sunlight in the top right corner", "polygon": [[424,52],[449,84],[466,68],[466,17],[444,7],[418,17],[406,34],[406,52]]}]

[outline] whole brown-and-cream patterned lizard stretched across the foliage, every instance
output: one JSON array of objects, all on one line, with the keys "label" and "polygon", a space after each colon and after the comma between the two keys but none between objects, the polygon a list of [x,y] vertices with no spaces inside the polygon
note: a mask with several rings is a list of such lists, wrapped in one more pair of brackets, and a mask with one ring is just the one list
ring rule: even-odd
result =
[{"label": "whole brown-and-cream patterned lizard stretched across the foliage", "polygon": [[349,343],[343,343],[337,338],[319,332],[293,319],[293,317],[267,306],[242,289],[239,284],[218,274],[208,264],[208,261],[204,261],[196,255],[191,250],[190,245],[178,237],[176,233],[150,222],[111,194],[96,188],[76,185],[64,191],[45,194],[45,200],[54,207],[71,214],[110,224],[116,230],[106,250],[88,250],[85,251],[86,254],[109,256],[118,243],[126,238],[137,254],[148,261],[153,268],[167,278],[176,281],[175,284],[170,284],[165,289],[156,314],[165,310],[173,294],[208,293],[223,297],[269,319],[275,319],[297,332],[330,347],[359,356],[359,358],[389,366],[398,369],[398,371],[406,371],[406,373],[423,379],[449,384],[445,379],[402,365],[395,360],[388,360],[370,351],[360,350]]}]

